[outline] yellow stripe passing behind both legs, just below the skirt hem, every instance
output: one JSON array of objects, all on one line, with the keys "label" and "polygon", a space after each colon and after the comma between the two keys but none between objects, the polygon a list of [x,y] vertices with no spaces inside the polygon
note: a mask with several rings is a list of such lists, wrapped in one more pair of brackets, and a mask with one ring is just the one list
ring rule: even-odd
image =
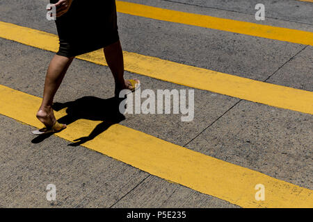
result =
[{"label": "yellow stripe passing behind both legs, just below the skirt hem", "polygon": [[[15,24],[0,22],[0,37],[39,49],[58,51],[56,35]],[[124,56],[125,70],[136,74],[278,108],[313,114],[313,92],[263,83],[126,51]],[[102,50],[93,51],[77,58],[106,65]]]}]

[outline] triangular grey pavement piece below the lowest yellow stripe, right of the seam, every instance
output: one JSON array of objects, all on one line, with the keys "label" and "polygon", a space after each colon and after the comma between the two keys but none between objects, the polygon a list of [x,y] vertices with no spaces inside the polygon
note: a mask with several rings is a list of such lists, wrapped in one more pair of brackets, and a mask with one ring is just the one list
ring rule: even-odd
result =
[{"label": "triangular grey pavement piece below the lowest yellow stripe, right of the seam", "polygon": [[197,208],[236,208],[225,200],[200,194],[156,176],[149,176],[138,187],[122,198],[113,207],[197,207]]}]

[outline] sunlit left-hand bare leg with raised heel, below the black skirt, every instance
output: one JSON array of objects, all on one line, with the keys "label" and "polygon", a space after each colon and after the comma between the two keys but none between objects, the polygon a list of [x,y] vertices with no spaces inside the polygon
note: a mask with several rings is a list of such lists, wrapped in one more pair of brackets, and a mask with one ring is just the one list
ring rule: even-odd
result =
[{"label": "sunlit left-hand bare leg with raised heel, below the black skirt", "polygon": [[54,111],[52,110],[54,95],[56,94],[58,87],[61,85],[66,71],[68,67],[70,67],[73,59],[74,57],[67,58],[56,55],[50,62],[45,80],[42,103],[37,112],[37,118],[44,123],[47,128],[54,126],[54,123],[56,123],[56,117],[54,117]]}]

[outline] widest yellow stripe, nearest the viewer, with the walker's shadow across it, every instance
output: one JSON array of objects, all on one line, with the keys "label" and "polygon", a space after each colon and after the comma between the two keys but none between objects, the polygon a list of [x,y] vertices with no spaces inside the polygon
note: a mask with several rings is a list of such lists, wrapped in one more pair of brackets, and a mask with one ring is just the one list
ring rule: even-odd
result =
[{"label": "widest yellow stripe, nearest the viewer, with the walker's shadow across it", "polygon": [[[41,127],[35,118],[41,99],[0,85],[0,114]],[[66,115],[56,112],[56,118]],[[73,142],[101,121],[79,119],[58,133]],[[123,139],[120,139],[123,138]],[[154,176],[216,196],[241,207],[313,207],[313,191],[239,167],[157,137],[115,124],[83,146]],[[255,200],[255,185],[265,186],[265,200]]]}]

